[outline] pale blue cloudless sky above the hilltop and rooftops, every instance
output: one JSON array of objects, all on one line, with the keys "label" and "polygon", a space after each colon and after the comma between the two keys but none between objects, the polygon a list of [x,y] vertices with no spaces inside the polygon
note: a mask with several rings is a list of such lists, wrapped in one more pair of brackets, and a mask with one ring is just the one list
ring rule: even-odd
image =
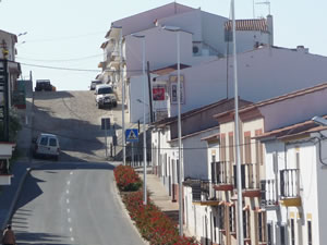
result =
[{"label": "pale blue cloudless sky above the hilltop and rooftops", "polygon": [[[267,0],[234,0],[235,17],[269,13]],[[58,90],[87,90],[104,60],[100,45],[113,21],[172,0],[0,0],[0,29],[19,36],[16,61],[22,77],[50,79]],[[178,3],[230,16],[230,0],[180,0]],[[270,0],[275,45],[327,57],[326,0]],[[39,68],[47,66],[47,68]],[[56,69],[50,69],[56,68]],[[68,70],[66,70],[68,69]],[[83,70],[83,71],[71,71]]]}]

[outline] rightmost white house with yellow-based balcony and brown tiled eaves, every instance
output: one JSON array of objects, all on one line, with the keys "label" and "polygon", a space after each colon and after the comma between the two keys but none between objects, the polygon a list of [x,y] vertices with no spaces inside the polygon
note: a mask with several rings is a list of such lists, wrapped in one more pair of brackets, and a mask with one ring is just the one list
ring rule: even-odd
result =
[{"label": "rightmost white house with yellow-based balcony and brown tiled eaves", "polygon": [[261,137],[266,149],[262,207],[274,245],[327,241],[327,127],[305,121]]}]

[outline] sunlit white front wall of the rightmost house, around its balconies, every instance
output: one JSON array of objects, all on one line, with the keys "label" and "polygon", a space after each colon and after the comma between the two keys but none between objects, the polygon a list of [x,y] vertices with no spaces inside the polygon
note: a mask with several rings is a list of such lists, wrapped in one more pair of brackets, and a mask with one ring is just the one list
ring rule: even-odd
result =
[{"label": "sunlit white front wall of the rightmost house, around its balconies", "polygon": [[[280,225],[280,223],[289,224],[288,240],[290,242],[290,218],[294,217],[295,222],[295,245],[300,245],[302,240],[305,244],[307,241],[307,215],[312,216],[312,236],[313,244],[322,244],[326,238],[325,229],[327,225],[326,217],[326,197],[324,187],[326,183],[327,172],[323,170],[317,161],[317,145],[314,142],[291,144],[287,146],[287,155],[284,155],[284,144],[281,142],[267,142],[266,146],[266,179],[271,180],[276,176],[274,174],[272,158],[274,152],[277,152],[278,170],[286,168],[295,168],[295,152],[300,152],[300,195],[302,206],[284,207],[279,206],[278,209],[267,209],[267,222],[272,222]],[[324,146],[326,148],[327,145]],[[287,160],[284,159],[287,156]],[[280,186],[280,184],[278,184]],[[280,189],[278,191],[280,193]],[[279,244],[279,231],[274,232],[275,244]]]}]

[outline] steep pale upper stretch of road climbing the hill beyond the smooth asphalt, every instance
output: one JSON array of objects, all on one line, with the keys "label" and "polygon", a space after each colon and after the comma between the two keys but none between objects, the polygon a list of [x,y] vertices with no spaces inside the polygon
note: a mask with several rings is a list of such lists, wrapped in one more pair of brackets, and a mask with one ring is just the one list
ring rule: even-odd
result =
[{"label": "steep pale upper stretch of road climbing the hill beyond the smooth asphalt", "polygon": [[[113,110],[99,110],[94,91],[34,93],[34,136],[58,135],[63,161],[104,161],[106,134],[100,130],[101,118],[110,118],[111,124],[121,128],[121,105]],[[113,131],[107,133],[110,155]]]}]

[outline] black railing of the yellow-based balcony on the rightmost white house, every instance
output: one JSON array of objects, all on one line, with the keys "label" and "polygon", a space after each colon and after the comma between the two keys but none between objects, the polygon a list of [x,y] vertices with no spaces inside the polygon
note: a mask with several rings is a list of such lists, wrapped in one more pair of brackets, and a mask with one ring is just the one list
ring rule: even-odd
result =
[{"label": "black railing of the yellow-based balcony on the rightmost white house", "polygon": [[280,170],[280,196],[282,198],[300,197],[300,170]]}]

